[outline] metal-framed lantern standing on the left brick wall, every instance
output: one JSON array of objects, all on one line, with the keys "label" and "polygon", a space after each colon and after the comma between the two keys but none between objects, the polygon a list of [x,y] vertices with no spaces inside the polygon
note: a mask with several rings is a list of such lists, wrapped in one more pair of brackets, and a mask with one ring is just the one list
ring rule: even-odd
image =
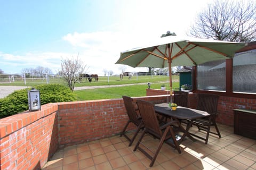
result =
[{"label": "metal-framed lantern standing on the left brick wall", "polygon": [[28,109],[29,111],[41,110],[40,92],[34,87],[28,91]]}]

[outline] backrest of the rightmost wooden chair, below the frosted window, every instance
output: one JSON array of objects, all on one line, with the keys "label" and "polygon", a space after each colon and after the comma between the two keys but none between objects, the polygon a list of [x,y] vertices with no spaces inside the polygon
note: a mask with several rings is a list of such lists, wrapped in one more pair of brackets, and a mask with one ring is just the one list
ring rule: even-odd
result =
[{"label": "backrest of the rightmost wooden chair, below the frosted window", "polygon": [[208,112],[209,114],[216,114],[218,107],[218,95],[212,94],[198,94],[197,109]]}]

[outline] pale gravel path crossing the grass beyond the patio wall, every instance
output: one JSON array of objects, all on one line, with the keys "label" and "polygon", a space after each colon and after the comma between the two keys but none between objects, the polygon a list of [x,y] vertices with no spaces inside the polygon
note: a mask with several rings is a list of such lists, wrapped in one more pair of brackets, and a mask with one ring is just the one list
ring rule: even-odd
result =
[{"label": "pale gravel path crossing the grass beyond the patio wall", "polygon": [[[147,83],[137,83],[137,84],[147,84]],[[84,89],[97,89],[97,88],[108,88],[108,87],[122,87],[122,86],[131,86],[135,84],[122,84],[122,85],[108,85],[108,86],[84,86],[84,87],[75,87],[74,90],[84,90]],[[28,86],[0,86],[0,98],[4,98],[14,92],[15,90],[21,90],[30,88]]]}]

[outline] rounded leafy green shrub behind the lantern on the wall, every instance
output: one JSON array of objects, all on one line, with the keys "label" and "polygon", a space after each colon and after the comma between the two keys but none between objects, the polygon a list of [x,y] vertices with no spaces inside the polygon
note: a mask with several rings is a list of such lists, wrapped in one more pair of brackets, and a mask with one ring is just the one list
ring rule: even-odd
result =
[{"label": "rounded leafy green shrub behind the lantern on the wall", "polygon": [[[43,84],[35,86],[35,89],[40,90],[41,105],[76,100],[72,91],[60,84]],[[27,111],[28,90],[31,88],[14,91],[0,99],[0,118]]]}]

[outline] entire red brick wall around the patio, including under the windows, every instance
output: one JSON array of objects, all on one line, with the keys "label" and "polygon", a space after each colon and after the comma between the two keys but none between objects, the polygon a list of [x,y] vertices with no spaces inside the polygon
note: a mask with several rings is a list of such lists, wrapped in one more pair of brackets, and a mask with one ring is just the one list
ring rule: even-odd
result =
[{"label": "entire red brick wall around the patio, including under the windows", "polygon": [[[137,99],[167,101],[166,95],[134,98]],[[195,108],[197,95],[189,94],[188,100],[188,106]],[[256,109],[256,99],[220,96],[218,122],[233,125],[236,108]],[[122,98],[47,104],[41,111],[3,118],[0,169],[39,169],[58,148],[116,135],[126,121]]]}]

